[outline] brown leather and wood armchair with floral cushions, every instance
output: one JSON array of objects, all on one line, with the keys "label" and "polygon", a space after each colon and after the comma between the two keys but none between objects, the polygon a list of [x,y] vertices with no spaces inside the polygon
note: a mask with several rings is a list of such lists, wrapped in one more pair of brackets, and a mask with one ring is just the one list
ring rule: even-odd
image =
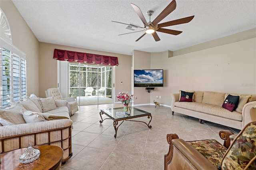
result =
[{"label": "brown leather and wood armchair with floral cushions", "polygon": [[167,134],[169,152],[164,157],[165,170],[255,170],[256,121],[247,124],[230,144],[233,132],[219,132],[217,140],[184,141],[177,134]]}]

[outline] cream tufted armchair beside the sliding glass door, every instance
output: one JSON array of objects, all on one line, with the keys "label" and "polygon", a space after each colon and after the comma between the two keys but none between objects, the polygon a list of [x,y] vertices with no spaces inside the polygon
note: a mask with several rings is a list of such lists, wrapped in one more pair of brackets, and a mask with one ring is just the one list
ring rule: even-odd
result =
[{"label": "cream tufted armchair beside the sliding glass door", "polygon": [[54,100],[66,100],[68,101],[69,115],[73,115],[78,111],[78,105],[74,97],[63,98],[58,88],[50,88],[45,91],[46,97],[53,97]]}]

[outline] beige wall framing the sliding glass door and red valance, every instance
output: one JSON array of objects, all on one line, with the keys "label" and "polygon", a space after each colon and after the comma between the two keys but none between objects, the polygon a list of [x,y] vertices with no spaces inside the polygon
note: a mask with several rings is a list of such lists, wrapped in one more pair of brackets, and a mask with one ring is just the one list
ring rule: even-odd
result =
[{"label": "beige wall framing the sliding glass door and red valance", "polygon": [[[40,56],[40,96],[45,97],[45,90],[57,87],[57,60],[53,59],[54,49],[64,49],[69,51],[78,51],[84,53],[93,53],[100,55],[108,55],[113,57],[118,57],[118,66],[115,66],[115,95],[120,91],[131,91],[131,66],[132,66],[132,56],[123,55],[117,53],[109,53],[104,51],[96,51],[91,49],[83,49],[77,47],[70,47],[65,45],[57,45],[51,43],[39,43],[39,56]],[[66,62],[66,61],[61,61]],[[122,83],[121,83],[122,82]]]}]

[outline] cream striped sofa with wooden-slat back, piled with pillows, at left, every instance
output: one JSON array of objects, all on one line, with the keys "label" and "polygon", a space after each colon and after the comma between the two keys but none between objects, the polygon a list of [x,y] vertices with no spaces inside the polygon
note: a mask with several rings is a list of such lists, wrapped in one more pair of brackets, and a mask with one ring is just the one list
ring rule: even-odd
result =
[{"label": "cream striped sofa with wooden-slat back, piled with pillows, at left", "polygon": [[[0,123],[4,124],[0,124],[1,153],[28,147],[29,143],[32,146],[49,144],[63,149],[62,163],[66,162],[72,156],[72,121],[67,105],[66,100],[31,95],[0,110]],[[26,117],[25,113],[28,113]]]}]

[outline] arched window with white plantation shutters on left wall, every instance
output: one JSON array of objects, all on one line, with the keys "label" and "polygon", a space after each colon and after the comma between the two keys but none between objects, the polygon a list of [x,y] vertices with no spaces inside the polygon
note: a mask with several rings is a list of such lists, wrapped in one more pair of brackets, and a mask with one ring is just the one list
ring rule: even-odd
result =
[{"label": "arched window with white plantation shutters on left wall", "polygon": [[26,97],[26,54],[12,44],[8,20],[0,9],[0,109]]}]

